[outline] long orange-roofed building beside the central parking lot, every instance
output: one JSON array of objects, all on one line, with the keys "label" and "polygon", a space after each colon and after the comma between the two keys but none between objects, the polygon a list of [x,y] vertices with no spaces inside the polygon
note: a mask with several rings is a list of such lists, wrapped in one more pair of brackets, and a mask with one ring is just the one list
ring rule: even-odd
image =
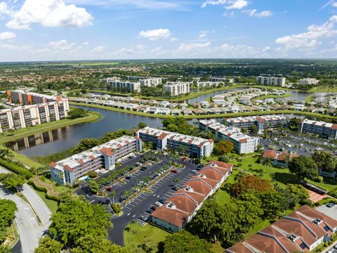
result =
[{"label": "long orange-roofed building beside the central parking lot", "polygon": [[152,222],[173,232],[184,228],[197,214],[209,196],[223,184],[232,172],[232,164],[210,162],[193,176],[164,205],[155,210]]}]

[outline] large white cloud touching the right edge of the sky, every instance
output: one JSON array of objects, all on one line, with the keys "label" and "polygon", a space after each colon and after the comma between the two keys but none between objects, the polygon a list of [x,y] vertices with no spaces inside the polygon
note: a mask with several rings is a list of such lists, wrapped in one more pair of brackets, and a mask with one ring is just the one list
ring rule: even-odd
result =
[{"label": "large white cloud touching the right edge of the sky", "polygon": [[287,49],[315,48],[322,44],[319,39],[330,38],[337,34],[337,30],[335,30],[336,22],[337,15],[333,15],[323,25],[310,25],[307,32],[279,37],[275,42],[284,45]]}]

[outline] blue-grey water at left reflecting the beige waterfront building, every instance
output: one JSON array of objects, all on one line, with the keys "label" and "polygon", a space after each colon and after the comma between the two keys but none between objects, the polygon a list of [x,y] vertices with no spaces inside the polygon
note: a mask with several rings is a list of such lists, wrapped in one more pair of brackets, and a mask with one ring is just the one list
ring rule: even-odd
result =
[{"label": "blue-grey water at left reflecting the beige waterfront building", "polygon": [[98,108],[88,108],[93,112],[100,112],[103,119],[98,122],[88,122],[65,126],[42,134],[34,134],[16,141],[6,143],[6,147],[18,151],[27,157],[46,156],[60,153],[77,145],[83,138],[100,138],[107,132],[118,129],[132,129],[139,122],[145,122],[154,128],[161,127],[162,119],[128,115],[123,112],[114,112]]}]

